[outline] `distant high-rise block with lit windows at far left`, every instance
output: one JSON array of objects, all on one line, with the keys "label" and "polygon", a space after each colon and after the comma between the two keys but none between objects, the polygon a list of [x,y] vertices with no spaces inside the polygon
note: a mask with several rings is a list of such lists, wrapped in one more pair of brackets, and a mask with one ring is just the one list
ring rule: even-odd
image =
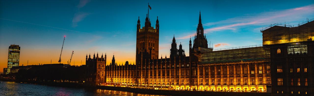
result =
[{"label": "distant high-rise block with lit windows at far left", "polygon": [[9,46],[7,74],[13,66],[19,66],[20,47],[19,45]]}]

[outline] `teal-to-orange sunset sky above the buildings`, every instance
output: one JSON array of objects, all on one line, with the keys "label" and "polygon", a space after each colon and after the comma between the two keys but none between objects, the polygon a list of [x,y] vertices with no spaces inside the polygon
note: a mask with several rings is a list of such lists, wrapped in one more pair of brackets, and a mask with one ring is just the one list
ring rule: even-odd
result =
[{"label": "teal-to-orange sunset sky above the buildings", "polygon": [[64,35],[62,63],[72,51],[72,65],[85,64],[89,53],[133,63],[138,16],[143,27],[148,3],[152,26],[159,17],[159,58],[170,54],[173,35],[188,50],[199,12],[214,49],[259,45],[260,30],[270,24],[297,26],[314,18],[313,0],[1,0],[0,72],[7,67],[10,44],[21,47],[20,65],[58,63]]}]

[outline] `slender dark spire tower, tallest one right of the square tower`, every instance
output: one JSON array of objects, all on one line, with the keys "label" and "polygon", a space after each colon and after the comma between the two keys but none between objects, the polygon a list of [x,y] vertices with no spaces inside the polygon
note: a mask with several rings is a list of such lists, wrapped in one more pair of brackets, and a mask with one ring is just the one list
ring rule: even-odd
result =
[{"label": "slender dark spire tower, tallest one right of the square tower", "polygon": [[198,27],[197,29],[197,34],[194,37],[194,43],[193,43],[193,48],[208,48],[207,44],[207,39],[206,36],[204,36],[204,28],[202,24],[202,19],[201,19],[201,12],[199,12],[199,19],[198,19]]}]

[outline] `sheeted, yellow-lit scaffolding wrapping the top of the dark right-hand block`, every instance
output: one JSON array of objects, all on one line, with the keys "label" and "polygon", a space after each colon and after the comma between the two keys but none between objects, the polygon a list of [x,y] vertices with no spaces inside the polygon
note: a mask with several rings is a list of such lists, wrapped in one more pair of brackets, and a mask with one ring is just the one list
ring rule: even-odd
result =
[{"label": "sheeted, yellow-lit scaffolding wrapping the top of the dark right-hand block", "polygon": [[263,45],[314,41],[313,20],[310,19],[300,23],[298,27],[273,24],[263,28],[261,30],[263,33]]}]

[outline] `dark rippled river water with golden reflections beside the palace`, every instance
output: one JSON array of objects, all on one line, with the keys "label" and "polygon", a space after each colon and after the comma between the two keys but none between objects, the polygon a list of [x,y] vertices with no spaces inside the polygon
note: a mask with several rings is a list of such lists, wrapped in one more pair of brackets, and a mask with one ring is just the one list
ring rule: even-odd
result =
[{"label": "dark rippled river water with golden reflections beside the palace", "polygon": [[1,82],[0,96],[161,96],[124,91]]}]

